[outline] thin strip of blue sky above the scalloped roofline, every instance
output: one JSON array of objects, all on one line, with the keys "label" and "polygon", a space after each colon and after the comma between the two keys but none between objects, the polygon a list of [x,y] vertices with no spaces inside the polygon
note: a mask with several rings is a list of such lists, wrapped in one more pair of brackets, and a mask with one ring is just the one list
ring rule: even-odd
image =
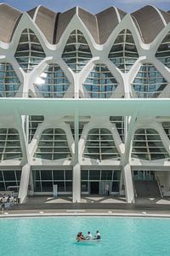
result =
[{"label": "thin strip of blue sky above the scalloped roofline", "polygon": [[55,12],[64,12],[72,7],[80,6],[93,14],[111,6],[116,6],[127,13],[133,13],[148,4],[165,11],[170,10],[170,0],[4,0],[0,3],[7,3],[21,11],[27,11],[37,5],[43,5]]}]

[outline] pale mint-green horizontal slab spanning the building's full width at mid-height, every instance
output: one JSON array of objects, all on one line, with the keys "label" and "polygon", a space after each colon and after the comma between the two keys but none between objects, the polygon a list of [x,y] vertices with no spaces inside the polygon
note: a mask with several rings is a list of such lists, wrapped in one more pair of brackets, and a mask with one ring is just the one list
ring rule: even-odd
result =
[{"label": "pale mint-green horizontal slab spanning the building's full width at mid-height", "polygon": [[80,115],[170,116],[169,99],[26,99],[1,98],[0,114],[19,113],[26,115],[71,115],[78,110]]}]

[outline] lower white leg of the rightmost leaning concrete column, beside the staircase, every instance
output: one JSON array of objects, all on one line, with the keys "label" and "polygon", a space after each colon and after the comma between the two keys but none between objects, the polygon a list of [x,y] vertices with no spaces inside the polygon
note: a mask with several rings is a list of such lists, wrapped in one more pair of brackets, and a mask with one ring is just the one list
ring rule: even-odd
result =
[{"label": "lower white leg of the rightmost leaning concrete column, beside the staircase", "polygon": [[131,166],[127,163],[123,168],[123,177],[125,184],[125,194],[127,203],[134,202],[134,192],[133,192],[133,177],[131,172]]}]

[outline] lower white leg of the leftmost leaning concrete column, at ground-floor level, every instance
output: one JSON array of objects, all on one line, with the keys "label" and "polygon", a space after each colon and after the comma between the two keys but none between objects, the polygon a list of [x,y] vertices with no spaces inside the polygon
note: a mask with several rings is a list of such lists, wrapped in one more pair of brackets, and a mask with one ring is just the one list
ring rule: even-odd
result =
[{"label": "lower white leg of the leftmost leaning concrete column, at ground-floor level", "polygon": [[20,203],[26,202],[26,196],[28,193],[28,184],[30,178],[30,165],[27,163],[25,166],[22,167],[22,173],[20,177],[20,190],[19,190],[19,198]]}]

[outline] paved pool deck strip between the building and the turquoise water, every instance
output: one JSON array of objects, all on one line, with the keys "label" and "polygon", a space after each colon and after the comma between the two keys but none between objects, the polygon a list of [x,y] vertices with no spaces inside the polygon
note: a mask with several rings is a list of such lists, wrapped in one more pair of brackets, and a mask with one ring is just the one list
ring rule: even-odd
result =
[{"label": "paved pool deck strip between the building and the turquoise water", "polygon": [[33,196],[26,204],[0,211],[0,218],[32,216],[136,216],[170,218],[170,198],[138,198],[129,204],[124,197],[82,196],[81,203],[71,197]]}]

